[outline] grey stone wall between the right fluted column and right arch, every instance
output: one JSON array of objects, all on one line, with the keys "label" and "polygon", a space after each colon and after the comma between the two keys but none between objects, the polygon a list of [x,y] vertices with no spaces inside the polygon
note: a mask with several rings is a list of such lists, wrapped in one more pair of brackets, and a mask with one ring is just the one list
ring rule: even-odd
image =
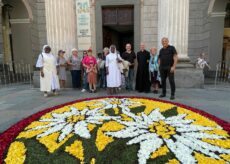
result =
[{"label": "grey stone wall between the right fluted column and right arch", "polygon": [[210,0],[190,0],[188,55],[195,62],[201,52],[209,54],[210,22],[208,7]]}]

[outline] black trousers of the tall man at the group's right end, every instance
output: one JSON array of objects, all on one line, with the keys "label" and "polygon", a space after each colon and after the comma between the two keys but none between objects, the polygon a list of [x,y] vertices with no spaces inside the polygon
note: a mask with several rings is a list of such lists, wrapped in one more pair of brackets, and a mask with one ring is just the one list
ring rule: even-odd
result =
[{"label": "black trousers of the tall man at the group's right end", "polygon": [[171,73],[170,69],[160,69],[160,74],[161,74],[161,83],[162,83],[162,94],[166,95],[166,79],[168,77],[170,87],[171,87],[171,95],[174,96],[176,91],[174,73]]}]

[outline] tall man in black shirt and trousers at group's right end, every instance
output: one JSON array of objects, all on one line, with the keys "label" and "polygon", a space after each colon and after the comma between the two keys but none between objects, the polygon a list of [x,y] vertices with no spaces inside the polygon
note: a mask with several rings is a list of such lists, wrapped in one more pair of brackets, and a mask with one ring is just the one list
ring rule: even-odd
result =
[{"label": "tall man in black shirt and trousers at group's right end", "polygon": [[177,64],[177,51],[174,46],[169,45],[168,38],[162,38],[161,40],[163,48],[160,50],[159,54],[159,65],[160,65],[160,74],[161,74],[161,82],[162,82],[162,94],[160,98],[166,96],[166,79],[169,77],[169,83],[171,87],[171,100],[175,99],[175,80],[174,80],[174,72]]}]

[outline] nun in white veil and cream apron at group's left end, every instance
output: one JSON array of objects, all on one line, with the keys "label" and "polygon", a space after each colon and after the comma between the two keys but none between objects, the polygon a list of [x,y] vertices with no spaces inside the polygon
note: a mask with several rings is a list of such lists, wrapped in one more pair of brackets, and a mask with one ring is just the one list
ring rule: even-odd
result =
[{"label": "nun in white veil and cream apron at group's left end", "polygon": [[48,92],[51,91],[54,95],[58,95],[60,85],[57,75],[57,58],[51,53],[50,46],[43,46],[36,67],[40,68],[40,90],[44,92],[44,97],[48,97]]}]

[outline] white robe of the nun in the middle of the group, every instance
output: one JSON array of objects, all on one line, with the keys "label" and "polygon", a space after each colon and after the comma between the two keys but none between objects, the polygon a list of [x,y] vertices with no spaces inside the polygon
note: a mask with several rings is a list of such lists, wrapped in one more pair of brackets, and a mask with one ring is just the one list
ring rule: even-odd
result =
[{"label": "white robe of the nun in the middle of the group", "polygon": [[109,74],[107,75],[107,87],[121,86],[121,72],[118,67],[117,57],[121,60],[119,54],[110,53],[106,56],[105,66],[108,67]]}]

